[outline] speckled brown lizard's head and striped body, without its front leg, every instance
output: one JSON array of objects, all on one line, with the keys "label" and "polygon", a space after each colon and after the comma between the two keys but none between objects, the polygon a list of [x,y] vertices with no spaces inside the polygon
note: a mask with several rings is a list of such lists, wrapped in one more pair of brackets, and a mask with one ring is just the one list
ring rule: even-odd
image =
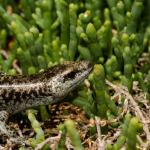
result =
[{"label": "speckled brown lizard's head and striped body, without its front leg", "polygon": [[0,74],[0,111],[10,115],[63,99],[90,73],[88,61],[67,62],[31,76]]}]

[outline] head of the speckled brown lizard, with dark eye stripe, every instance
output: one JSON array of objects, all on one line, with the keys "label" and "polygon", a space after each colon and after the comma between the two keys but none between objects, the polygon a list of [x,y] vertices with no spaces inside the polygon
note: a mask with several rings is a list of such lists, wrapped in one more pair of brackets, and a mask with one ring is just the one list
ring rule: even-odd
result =
[{"label": "head of the speckled brown lizard, with dark eye stripe", "polygon": [[93,65],[89,61],[66,62],[54,69],[57,73],[51,78],[49,86],[52,94],[61,98],[75,89],[89,75]]}]

